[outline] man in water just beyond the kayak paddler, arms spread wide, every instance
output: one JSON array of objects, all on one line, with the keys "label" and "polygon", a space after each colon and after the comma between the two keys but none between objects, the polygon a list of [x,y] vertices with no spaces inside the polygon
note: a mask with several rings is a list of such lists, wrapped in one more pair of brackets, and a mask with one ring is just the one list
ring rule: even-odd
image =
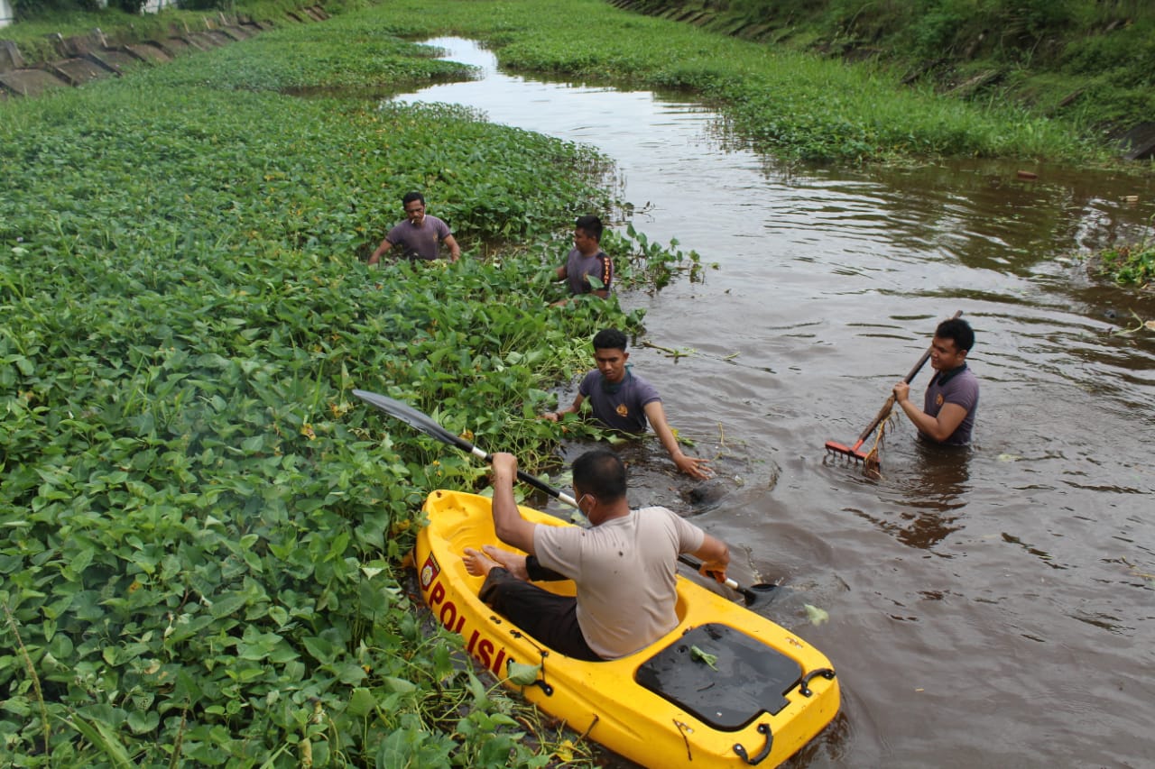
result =
[{"label": "man in water just beyond the kayak paddler, arms spread wide", "polygon": [[550,411],[543,415],[544,418],[559,421],[567,413],[579,412],[588,398],[594,418],[610,430],[641,434],[646,432],[648,419],[678,470],[699,480],[709,478],[713,475],[707,466],[709,461],[683,454],[665,420],[662,396],[653,384],[631,371],[633,366],[627,366],[627,360],[626,335],[614,328],[598,331],[594,336],[594,363],[597,368],[582,379],[572,404]]}]

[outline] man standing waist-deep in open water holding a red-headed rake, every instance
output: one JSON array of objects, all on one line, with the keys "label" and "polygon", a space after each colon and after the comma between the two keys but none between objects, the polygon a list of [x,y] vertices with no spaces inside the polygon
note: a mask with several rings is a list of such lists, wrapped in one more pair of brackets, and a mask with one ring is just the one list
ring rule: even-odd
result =
[{"label": "man standing waist-deep in open water holding a red-headed rake", "polygon": [[918,434],[945,446],[967,446],[978,410],[978,379],[967,367],[967,353],[975,344],[970,323],[952,318],[939,323],[931,342],[934,376],[926,386],[922,411],[910,402],[910,384],[894,386],[894,401],[910,418]]}]

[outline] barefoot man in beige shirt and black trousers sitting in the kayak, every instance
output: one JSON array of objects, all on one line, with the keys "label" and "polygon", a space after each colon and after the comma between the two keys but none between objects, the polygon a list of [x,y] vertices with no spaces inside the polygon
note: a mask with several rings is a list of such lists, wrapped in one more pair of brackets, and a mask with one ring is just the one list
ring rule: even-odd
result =
[{"label": "barefoot man in beige shirt and black trousers sitting in the kayak", "polygon": [[[485,576],[479,596],[551,649],[578,659],[616,659],[672,630],[678,555],[693,553],[702,573],[725,581],[730,548],[664,507],[631,510],[626,466],[608,449],[573,464],[574,497],[591,528],[551,527],[521,516],[513,495],[517,460],[493,455],[493,524],[507,545],[465,548],[465,569]],[[573,580],[576,596],[559,596],[534,580]]]}]

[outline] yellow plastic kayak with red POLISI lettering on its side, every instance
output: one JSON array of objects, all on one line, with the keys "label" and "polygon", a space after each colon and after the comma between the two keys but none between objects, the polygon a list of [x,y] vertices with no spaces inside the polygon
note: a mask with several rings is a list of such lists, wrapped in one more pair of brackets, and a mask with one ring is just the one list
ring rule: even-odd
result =
[{"label": "yellow plastic kayak with red POLISI lettering on its side", "polygon": [[[571,525],[521,507],[527,520]],[[438,620],[498,679],[574,731],[646,767],[774,767],[837,714],[829,660],[785,628],[679,575],[678,626],[620,659],[584,662],[551,651],[477,597],[483,577],[465,547],[500,544],[491,500],[434,491],[415,563]],[[572,581],[541,587],[574,595]],[[509,680],[509,664],[541,665],[532,684]]]}]

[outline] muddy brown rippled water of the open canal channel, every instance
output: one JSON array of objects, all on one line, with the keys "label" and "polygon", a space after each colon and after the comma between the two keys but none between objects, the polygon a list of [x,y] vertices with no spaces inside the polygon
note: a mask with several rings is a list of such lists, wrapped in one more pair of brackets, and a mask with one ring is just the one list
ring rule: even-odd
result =
[{"label": "muddy brown rippled water of the open canal channel", "polygon": [[[718,471],[703,500],[656,441],[629,447],[632,502],[728,540],[739,582],[781,580],[760,611],[837,669],[842,711],[789,766],[1155,766],[1155,331],[1120,333],[1155,296],[1078,259],[1141,236],[1155,181],[787,165],[684,98],[432,43],[483,76],[404,100],[597,147],[638,229],[717,264],[621,297],[647,311],[639,342],[686,353],[631,361]],[[925,448],[899,415],[880,478],[832,460],[825,442],[852,442],[957,309],[977,335],[974,447]]]}]

